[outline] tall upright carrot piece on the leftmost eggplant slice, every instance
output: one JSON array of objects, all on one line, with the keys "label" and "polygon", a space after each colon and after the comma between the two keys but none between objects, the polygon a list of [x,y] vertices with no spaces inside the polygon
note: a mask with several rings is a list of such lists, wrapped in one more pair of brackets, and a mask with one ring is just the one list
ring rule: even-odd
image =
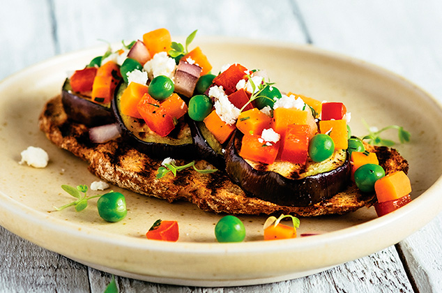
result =
[{"label": "tall upright carrot piece on the leftmost eggplant slice", "polygon": [[93,80],[91,98],[97,103],[109,103],[114,96],[116,85],[121,79],[120,68],[114,61],[100,66]]}]

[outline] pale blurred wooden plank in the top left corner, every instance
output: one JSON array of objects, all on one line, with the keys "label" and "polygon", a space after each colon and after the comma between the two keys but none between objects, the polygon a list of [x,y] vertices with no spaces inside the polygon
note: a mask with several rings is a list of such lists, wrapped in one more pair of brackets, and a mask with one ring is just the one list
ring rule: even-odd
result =
[{"label": "pale blurred wooden plank in the top left corner", "polygon": [[[50,8],[46,0],[9,1],[0,9],[0,80],[54,56]],[[5,58],[7,57],[7,58]]]}]

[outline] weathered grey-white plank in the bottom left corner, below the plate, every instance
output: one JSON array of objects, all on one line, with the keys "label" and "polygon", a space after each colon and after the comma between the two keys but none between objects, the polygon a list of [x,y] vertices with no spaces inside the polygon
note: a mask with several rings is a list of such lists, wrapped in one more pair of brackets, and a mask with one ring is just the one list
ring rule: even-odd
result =
[{"label": "weathered grey-white plank in the bottom left corner, below the plate", "polygon": [[0,227],[0,292],[89,292],[86,266]]}]

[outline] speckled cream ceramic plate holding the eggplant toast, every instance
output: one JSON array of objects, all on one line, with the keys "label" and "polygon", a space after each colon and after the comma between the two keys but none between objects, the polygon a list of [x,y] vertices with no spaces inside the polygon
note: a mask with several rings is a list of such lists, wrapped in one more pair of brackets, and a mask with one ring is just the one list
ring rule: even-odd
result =
[{"label": "speckled cream ceramic plate holding the eggplant toast", "polygon": [[[378,127],[404,126],[412,142],[397,149],[411,165],[413,202],[382,218],[373,208],[346,216],[301,218],[298,234],[320,234],[281,241],[262,241],[266,216],[241,216],[247,230],[243,243],[215,241],[220,215],[115,187],[126,195],[129,207],[119,223],[101,220],[93,200],[82,212],[54,212],[53,205],[71,200],[61,184],[89,185],[97,178],[81,160],[46,140],[38,130],[38,115],[45,101],[60,92],[67,73],[102,54],[105,48],[100,47],[49,59],[1,82],[0,224],[103,271],[158,283],[218,286],[268,283],[322,271],[401,241],[441,211],[437,190],[442,188],[442,110],[427,93],[386,70],[314,47],[220,38],[196,42],[214,72],[224,63],[237,62],[266,69],[282,91],[343,101],[356,135],[366,133],[361,119]],[[390,135],[396,138],[396,133]],[[49,153],[48,167],[38,170],[17,163],[30,145]],[[178,220],[178,242],[145,238],[158,218]]]}]

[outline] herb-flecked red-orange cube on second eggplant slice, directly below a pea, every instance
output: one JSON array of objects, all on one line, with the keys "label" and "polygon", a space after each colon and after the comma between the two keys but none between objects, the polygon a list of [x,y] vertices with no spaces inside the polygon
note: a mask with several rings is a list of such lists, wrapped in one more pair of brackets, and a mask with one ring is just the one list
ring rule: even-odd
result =
[{"label": "herb-flecked red-orange cube on second eggplant slice, directly below a pea", "polygon": [[167,136],[175,128],[174,119],[167,114],[165,107],[162,107],[158,100],[144,93],[142,100],[137,105],[139,114],[151,130],[162,136]]}]

